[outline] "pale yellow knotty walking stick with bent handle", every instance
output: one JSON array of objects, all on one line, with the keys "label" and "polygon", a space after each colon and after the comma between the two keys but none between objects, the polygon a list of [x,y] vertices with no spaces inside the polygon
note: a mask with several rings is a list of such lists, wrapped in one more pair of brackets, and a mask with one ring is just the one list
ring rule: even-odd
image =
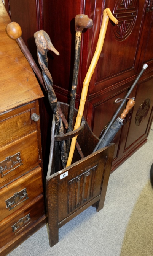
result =
[{"label": "pale yellow knotty walking stick with bent handle", "polygon": [[[110,9],[109,8],[105,9],[103,11],[102,26],[101,26],[101,29],[100,29],[100,34],[99,34],[99,38],[98,38],[98,42],[97,42],[96,51],[94,53],[94,56],[92,58],[91,64],[90,64],[89,69],[88,69],[88,72],[87,72],[86,77],[85,77],[84,82],[83,82],[83,88],[82,88],[81,99],[80,99],[80,106],[79,106],[79,109],[78,109],[78,115],[77,115],[76,123],[75,123],[75,126],[74,126],[74,130],[78,129],[78,127],[81,124],[81,119],[82,119],[82,116],[83,116],[83,110],[84,110],[84,105],[85,105],[85,102],[86,102],[86,96],[87,96],[87,92],[88,92],[89,82],[91,80],[92,74],[93,74],[94,69],[96,67],[96,64],[97,64],[97,61],[99,59],[100,53],[102,51],[102,46],[104,44],[104,38],[105,38],[109,18],[115,24],[118,24],[118,20],[116,20],[116,18],[112,15]],[[69,153],[69,157],[68,157],[68,160],[67,160],[67,166],[69,166],[72,162],[72,157],[73,157],[73,153],[74,153],[74,149],[75,149],[76,140],[77,140],[77,137],[74,137],[72,139],[71,147],[70,147],[70,153]]]}]

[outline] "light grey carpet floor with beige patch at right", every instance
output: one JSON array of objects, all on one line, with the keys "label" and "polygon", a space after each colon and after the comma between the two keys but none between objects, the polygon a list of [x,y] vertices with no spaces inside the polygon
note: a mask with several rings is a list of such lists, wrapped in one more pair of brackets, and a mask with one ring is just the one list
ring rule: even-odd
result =
[{"label": "light grey carpet floor with beige patch at right", "polygon": [[153,130],[148,142],[110,175],[104,209],[89,207],[65,224],[52,248],[45,225],[8,255],[152,256],[152,152]]}]

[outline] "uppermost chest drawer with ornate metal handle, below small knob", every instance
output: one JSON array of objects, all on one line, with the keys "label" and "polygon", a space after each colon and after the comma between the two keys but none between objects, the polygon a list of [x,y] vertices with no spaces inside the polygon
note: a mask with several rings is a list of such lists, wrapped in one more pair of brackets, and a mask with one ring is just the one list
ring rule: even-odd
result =
[{"label": "uppermost chest drawer with ornate metal handle, below small knob", "polygon": [[[18,154],[20,152],[21,161],[17,161]],[[17,155],[16,155],[17,154]],[[15,155],[15,156],[14,156]],[[12,166],[12,161],[6,159],[8,156],[13,161],[17,161]],[[8,166],[8,170],[4,170],[5,166]],[[16,140],[4,147],[0,148],[0,188],[10,183],[14,179],[18,178],[22,174],[32,170],[39,165],[39,153],[38,153],[38,142],[37,142],[37,131]],[[9,172],[10,171],[10,172]],[[4,175],[4,176],[3,176]]]}]

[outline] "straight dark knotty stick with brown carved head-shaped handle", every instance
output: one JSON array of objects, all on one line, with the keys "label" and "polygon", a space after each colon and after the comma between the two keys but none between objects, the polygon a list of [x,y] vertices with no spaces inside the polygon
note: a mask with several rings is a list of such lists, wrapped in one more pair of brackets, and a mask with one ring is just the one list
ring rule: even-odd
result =
[{"label": "straight dark knotty stick with brown carved head-shaped handle", "polygon": [[[75,17],[75,60],[73,69],[73,80],[71,88],[71,101],[70,101],[70,113],[69,113],[69,127],[67,132],[72,132],[74,108],[75,108],[75,97],[77,94],[78,85],[78,72],[80,64],[80,48],[81,48],[81,34],[84,28],[92,28],[93,21],[88,18],[88,15],[78,14]],[[67,155],[69,154],[70,139],[66,142],[67,145]]]}]

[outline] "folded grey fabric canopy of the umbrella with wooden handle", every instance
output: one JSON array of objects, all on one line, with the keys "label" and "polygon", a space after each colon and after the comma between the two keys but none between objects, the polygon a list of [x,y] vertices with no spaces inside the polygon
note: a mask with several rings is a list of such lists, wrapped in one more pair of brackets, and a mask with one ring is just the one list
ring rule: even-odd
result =
[{"label": "folded grey fabric canopy of the umbrella with wooden handle", "polygon": [[118,132],[118,130],[120,130],[121,126],[123,126],[123,120],[124,119],[122,119],[120,117],[118,117],[115,120],[115,122],[112,124],[112,126],[108,130],[107,134],[105,135],[104,139],[100,143],[100,145],[97,148],[97,150],[99,150],[100,148],[104,148],[104,147],[108,146],[111,143],[111,141],[115,137],[115,135]]}]

